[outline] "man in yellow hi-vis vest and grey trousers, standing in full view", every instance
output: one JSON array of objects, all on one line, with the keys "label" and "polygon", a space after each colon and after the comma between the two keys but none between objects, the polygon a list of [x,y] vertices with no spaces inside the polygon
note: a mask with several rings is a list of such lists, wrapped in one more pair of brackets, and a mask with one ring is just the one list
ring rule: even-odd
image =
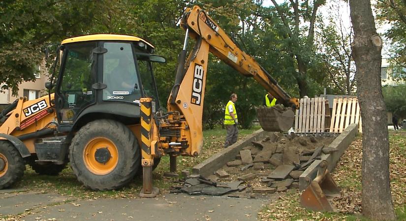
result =
[{"label": "man in yellow hi-vis vest and grey trousers, standing in full view", "polygon": [[224,126],[227,127],[227,136],[224,142],[224,148],[237,142],[238,136],[238,116],[235,110],[235,102],[237,101],[237,94],[231,94],[230,100],[225,106],[224,113]]}]

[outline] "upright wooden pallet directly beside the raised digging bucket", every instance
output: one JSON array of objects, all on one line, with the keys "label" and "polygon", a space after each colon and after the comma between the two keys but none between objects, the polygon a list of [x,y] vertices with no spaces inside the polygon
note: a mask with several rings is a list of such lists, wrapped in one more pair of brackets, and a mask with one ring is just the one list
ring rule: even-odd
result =
[{"label": "upright wooden pallet directly beside the raised digging bucket", "polygon": [[[330,125],[330,109],[324,97],[302,98],[295,114],[296,133],[324,133]],[[327,125],[327,126],[326,126]]]}]

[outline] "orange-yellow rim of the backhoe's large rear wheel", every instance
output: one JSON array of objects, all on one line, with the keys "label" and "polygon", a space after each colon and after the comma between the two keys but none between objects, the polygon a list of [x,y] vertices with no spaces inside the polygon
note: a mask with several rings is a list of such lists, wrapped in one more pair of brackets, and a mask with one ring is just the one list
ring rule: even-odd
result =
[{"label": "orange-yellow rim of the backhoe's large rear wheel", "polygon": [[[103,149],[108,150],[110,153],[110,158],[106,162],[101,163],[100,160],[96,159],[96,151]],[[108,138],[96,137],[91,139],[88,144],[86,144],[85,150],[83,151],[83,159],[86,167],[94,174],[105,175],[113,171],[119,163],[119,152],[117,146]]]}]

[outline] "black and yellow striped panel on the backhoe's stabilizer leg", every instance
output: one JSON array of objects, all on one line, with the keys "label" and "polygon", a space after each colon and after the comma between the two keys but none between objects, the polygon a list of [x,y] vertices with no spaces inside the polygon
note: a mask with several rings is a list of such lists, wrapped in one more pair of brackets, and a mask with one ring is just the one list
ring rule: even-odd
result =
[{"label": "black and yellow striped panel on the backhoe's stabilizer leg", "polygon": [[151,100],[141,102],[141,150],[143,159],[146,155],[151,155],[151,123]]}]

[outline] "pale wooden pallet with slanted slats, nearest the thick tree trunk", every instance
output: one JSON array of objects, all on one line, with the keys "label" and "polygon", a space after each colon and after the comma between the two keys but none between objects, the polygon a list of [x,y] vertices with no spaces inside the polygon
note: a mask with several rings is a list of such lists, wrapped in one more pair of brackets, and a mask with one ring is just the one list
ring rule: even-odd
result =
[{"label": "pale wooden pallet with slanted slats, nearest the thick tree trunk", "polygon": [[342,133],[350,124],[357,123],[362,133],[360,107],[357,98],[334,98],[330,133]]}]

